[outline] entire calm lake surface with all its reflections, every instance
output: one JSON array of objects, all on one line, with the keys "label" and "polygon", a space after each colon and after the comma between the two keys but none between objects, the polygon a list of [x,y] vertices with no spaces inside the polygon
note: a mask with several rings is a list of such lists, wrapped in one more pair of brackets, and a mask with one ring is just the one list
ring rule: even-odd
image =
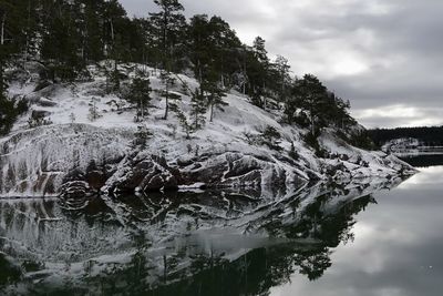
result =
[{"label": "entire calm lake surface with all its reflections", "polygon": [[443,166],[420,170],[293,193],[2,200],[0,294],[440,296]]}]

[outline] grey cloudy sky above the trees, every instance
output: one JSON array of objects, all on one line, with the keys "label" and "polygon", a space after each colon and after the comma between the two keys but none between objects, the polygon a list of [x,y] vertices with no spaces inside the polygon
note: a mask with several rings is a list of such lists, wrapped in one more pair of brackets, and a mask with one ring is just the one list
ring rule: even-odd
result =
[{"label": "grey cloudy sky above the trees", "polygon": [[[152,0],[120,0],[130,16]],[[443,124],[441,0],[182,0],[186,16],[217,14],[250,44],[267,41],[293,74],[313,73],[368,127]]]}]

